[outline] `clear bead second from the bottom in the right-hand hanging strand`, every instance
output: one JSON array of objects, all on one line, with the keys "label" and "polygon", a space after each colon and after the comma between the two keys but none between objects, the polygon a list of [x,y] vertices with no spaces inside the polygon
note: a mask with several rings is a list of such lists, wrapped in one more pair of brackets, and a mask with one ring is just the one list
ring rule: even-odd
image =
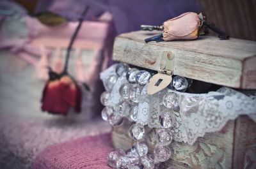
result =
[{"label": "clear bead second from the bottom in the right-hand hanging strand", "polygon": [[172,133],[167,129],[159,129],[156,134],[156,142],[158,145],[169,145],[172,143]]}]

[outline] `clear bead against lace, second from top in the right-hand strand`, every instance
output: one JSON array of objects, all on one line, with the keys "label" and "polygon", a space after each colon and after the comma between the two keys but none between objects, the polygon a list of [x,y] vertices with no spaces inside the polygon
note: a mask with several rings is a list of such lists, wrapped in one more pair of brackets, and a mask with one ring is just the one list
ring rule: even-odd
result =
[{"label": "clear bead against lace, second from top in the right-hand strand", "polygon": [[163,97],[163,105],[166,108],[179,110],[179,96],[175,92],[168,92]]}]

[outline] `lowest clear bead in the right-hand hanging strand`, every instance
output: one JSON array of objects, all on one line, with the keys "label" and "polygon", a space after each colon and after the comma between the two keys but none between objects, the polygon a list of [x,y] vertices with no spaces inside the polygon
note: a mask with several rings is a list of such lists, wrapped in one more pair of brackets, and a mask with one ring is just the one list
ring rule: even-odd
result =
[{"label": "lowest clear bead in the right-hand hanging strand", "polygon": [[157,145],[154,149],[154,158],[159,162],[168,160],[171,154],[172,152],[168,146]]}]

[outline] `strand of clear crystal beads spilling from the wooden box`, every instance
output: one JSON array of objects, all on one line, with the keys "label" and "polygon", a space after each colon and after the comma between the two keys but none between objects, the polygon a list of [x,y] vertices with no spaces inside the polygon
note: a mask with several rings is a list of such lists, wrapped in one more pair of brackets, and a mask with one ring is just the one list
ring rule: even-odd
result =
[{"label": "strand of clear crystal beads spilling from the wooden box", "polygon": [[[161,129],[156,129],[156,147],[154,153],[148,153],[148,146],[145,143],[147,131],[145,126],[136,123],[138,117],[138,102],[140,100],[141,90],[148,83],[151,74],[145,70],[129,68],[127,64],[117,64],[115,68],[116,75],[109,75],[106,78],[106,92],[103,92],[100,98],[102,105],[106,106],[102,110],[102,119],[108,121],[112,126],[120,126],[126,117],[131,121],[129,136],[134,140],[131,149],[126,151],[116,149],[108,155],[108,165],[112,168],[124,169],[154,169],[159,168],[161,162],[170,158],[172,152],[170,143],[172,143],[172,133],[168,130],[172,127],[175,120],[173,110],[179,110],[178,96],[175,92],[168,92],[163,98],[164,107],[170,112],[163,112],[159,116]],[[127,82],[120,85],[120,102],[115,106],[108,106],[110,92],[116,81],[120,77],[126,77]],[[184,77],[174,77],[172,83],[168,86],[176,91],[186,91],[191,82]],[[134,123],[135,122],[135,123]]]}]

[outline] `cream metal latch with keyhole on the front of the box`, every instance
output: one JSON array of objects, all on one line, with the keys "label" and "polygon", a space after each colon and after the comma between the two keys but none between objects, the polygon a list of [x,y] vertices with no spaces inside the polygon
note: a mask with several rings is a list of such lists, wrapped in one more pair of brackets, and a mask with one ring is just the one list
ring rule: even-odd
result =
[{"label": "cream metal latch with keyhole on the front of the box", "polygon": [[173,52],[164,51],[161,57],[158,73],[150,78],[148,82],[147,94],[155,94],[167,87],[172,82],[173,71],[174,54]]}]

